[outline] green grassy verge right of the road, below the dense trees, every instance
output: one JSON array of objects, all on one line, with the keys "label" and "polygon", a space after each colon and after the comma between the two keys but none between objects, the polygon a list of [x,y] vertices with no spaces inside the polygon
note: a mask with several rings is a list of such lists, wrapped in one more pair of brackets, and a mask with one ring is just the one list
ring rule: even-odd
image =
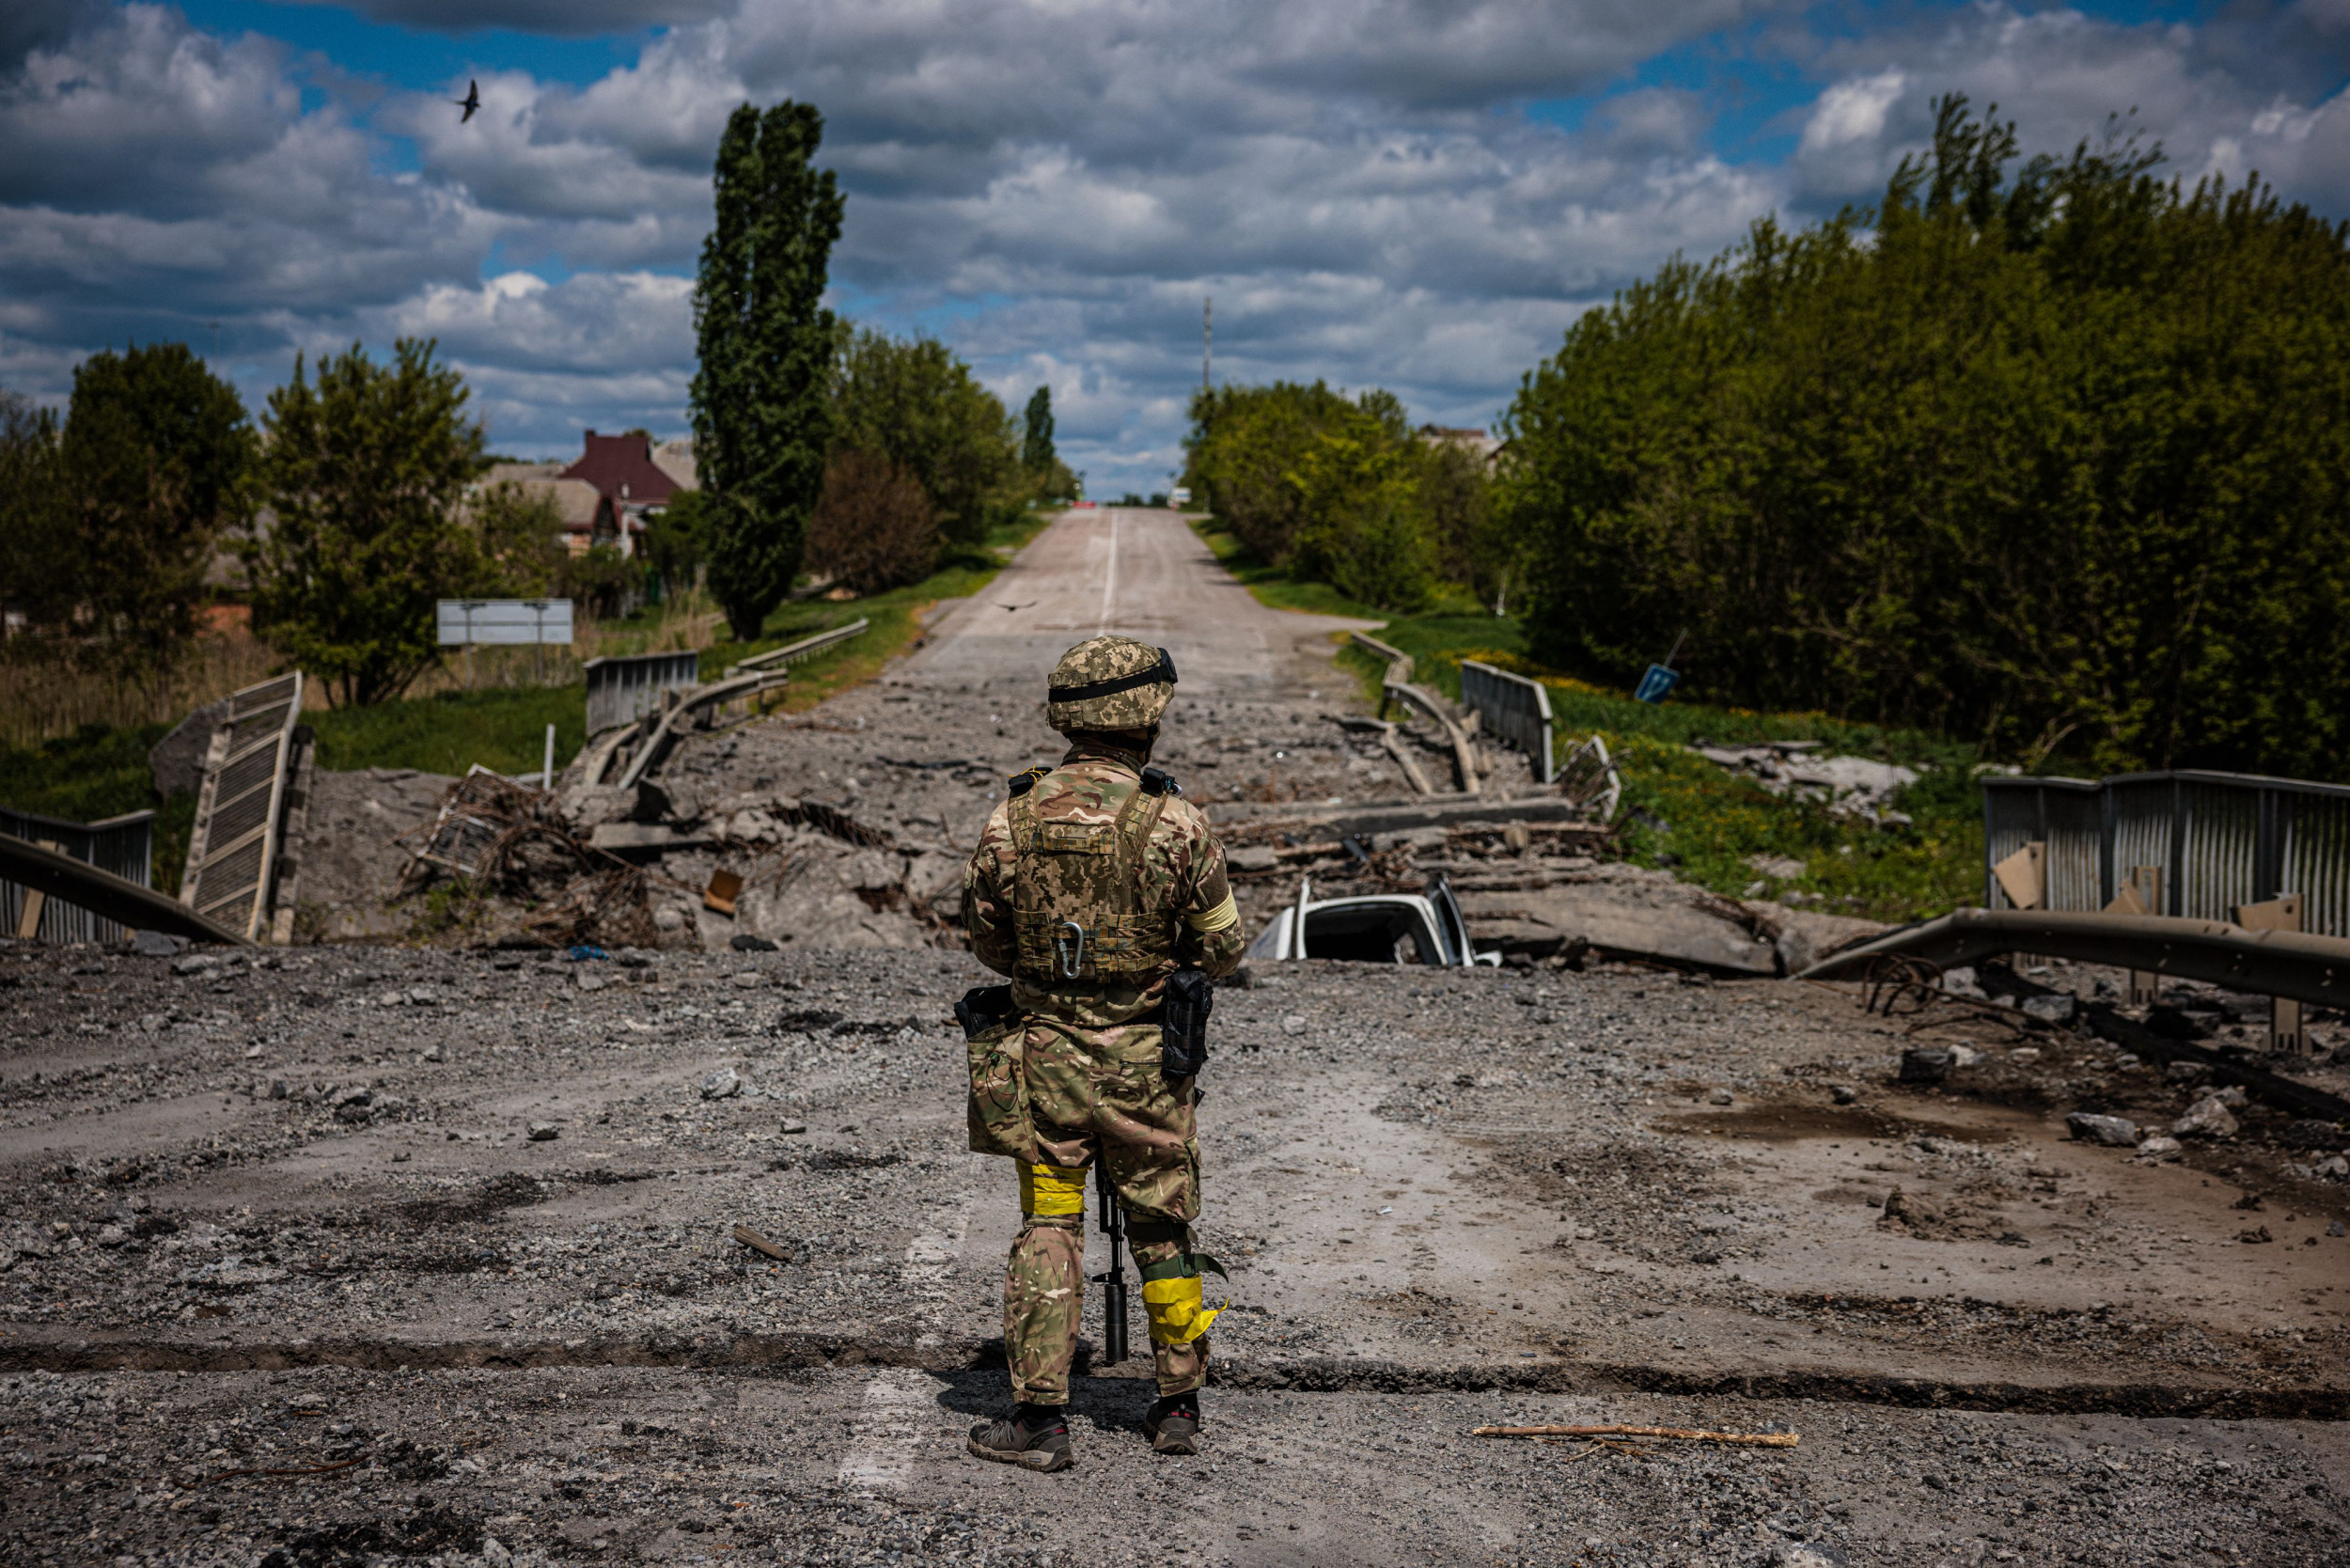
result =
[{"label": "green grassy verge right of the road, below the dense trees", "polygon": [[[1981,898],[1983,804],[1974,785],[1974,745],[1913,729],[1847,724],[1819,712],[1748,712],[1697,703],[1636,703],[1544,670],[1525,658],[1525,632],[1513,618],[1441,604],[1438,614],[1389,616],[1354,604],[1325,583],[1300,583],[1248,557],[1229,534],[1203,529],[1208,548],[1262,604],[1384,621],[1377,632],[1417,665],[1417,679],[1459,698],[1459,661],[1480,658],[1539,679],[1551,696],[1560,757],[1600,733],[1624,778],[1624,853],[1636,865],[1671,867],[1687,882],[1725,896],[1807,893],[1817,907],[1871,919],[1922,919]],[[1377,703],[1384,665],[1354,646],[1340,665]],[[1697,741],[1821,741],[1824,750],[1880,757],[1920,769],[1922,778],[1894,806],[1915,818],[1908,827],[1868,827],[1828,816],[1821,806],[1784,799],[1762,785],[1725,773],[1687,750]],[[1753,858],[1800,860],[1798,877],[1765,877]],[[1755,889],[1755,884],[1762,884]]]}]

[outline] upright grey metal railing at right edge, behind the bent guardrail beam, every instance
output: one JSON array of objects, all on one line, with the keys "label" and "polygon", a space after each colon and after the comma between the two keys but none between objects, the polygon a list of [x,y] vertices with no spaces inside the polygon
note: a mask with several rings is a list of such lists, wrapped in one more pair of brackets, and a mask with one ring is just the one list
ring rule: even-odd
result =
[{"label": "upright grey metal railing at right edge, behind the bent guardrail beam", "polygon": [[2301,929],[2350,936],[2350,788],[2258,773],[1986,778],[1983,900],[2014,903],[1993,867],[2047,844],[2047,910],[2103,910],[2155,870],[2155,914],[2235,919],[2242,905],[2301,896]]}]

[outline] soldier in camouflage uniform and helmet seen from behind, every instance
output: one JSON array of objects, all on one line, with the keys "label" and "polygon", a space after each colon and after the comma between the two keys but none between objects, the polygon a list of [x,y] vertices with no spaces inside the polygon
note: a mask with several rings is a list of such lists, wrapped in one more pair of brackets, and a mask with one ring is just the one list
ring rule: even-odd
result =
[{"label": "soldier in camouflage uniform and helmet seen from behind", "polygon": [[1152,1319],[1159,1453],[1196,1453],[1208,1380],[1191,1220],[1198,1218],[1196,1081],[1168,1079],[1159,1016],[1180,966],[1227,976],[1238,910],[1208,818],[1149,766],[1175,661],[1130,637],[1090,637],[1048,682],[1058,769],[1013,778],[964,875],[964,929],[1010,976],[1015,1018],[973,1044],[973,1147],[1020,1161],[1020,1234],[1003,1276],[1003,1349],[1018,1410],[980,1422],[971,1450],[1029,1469],[1074,1462],[1062,1408],[1083,1305],[1086,1171],[1100,1159],[1126,1211]]}]

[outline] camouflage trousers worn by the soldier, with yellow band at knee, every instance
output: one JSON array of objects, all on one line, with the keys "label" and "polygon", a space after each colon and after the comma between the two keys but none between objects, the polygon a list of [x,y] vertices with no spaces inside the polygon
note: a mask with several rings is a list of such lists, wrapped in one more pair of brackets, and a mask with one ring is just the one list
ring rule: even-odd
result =
[{"label": "camouflage trousers worn by the soldier, with yellow band at knee", "polygon": [[[1189,1079],[1159,1072],[1159,1025],[1079,1030],[1036,1018],[1027,1027],[1027,1095],[1046,1166],[1090,1171],[1100,1159],[1126,1211],[1137,1269],[1184,1267],[1198,1218],[1198,1133]],[[1003,1272],[1003,1356],[1013,1399],[1069,1401],[1069,1361],[1086,1302],[1083,1187],[1022,1180],[1022,1220]],[[1039,1199],[1039,1192],[1046,1197]],[[1050,1213],[1076,1206],[1074,1213]],[[1043,1208],[1046,1213],[1039,1213]],[[1159,1394],[1208,1380],[1208,1338],[1152,1338]]]}]

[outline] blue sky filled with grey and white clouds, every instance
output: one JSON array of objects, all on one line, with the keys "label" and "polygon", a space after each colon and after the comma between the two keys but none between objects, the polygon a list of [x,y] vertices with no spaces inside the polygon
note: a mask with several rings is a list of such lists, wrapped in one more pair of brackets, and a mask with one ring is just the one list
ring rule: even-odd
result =
[{"label": "blue sky filled with grey and white clouds", "polygon": [[1676,249],[1873,197],[1946,92],[2350,216],[2345,71],[2350,0],[5,0],[0,386],[186,339],[258,409],[425,334],[501,451],[679,433],[719,127],[794,96],[837,306],[1050,383],[1093,494],[1149,491],[1206,296],[1217,381],[1483,425]]}]

